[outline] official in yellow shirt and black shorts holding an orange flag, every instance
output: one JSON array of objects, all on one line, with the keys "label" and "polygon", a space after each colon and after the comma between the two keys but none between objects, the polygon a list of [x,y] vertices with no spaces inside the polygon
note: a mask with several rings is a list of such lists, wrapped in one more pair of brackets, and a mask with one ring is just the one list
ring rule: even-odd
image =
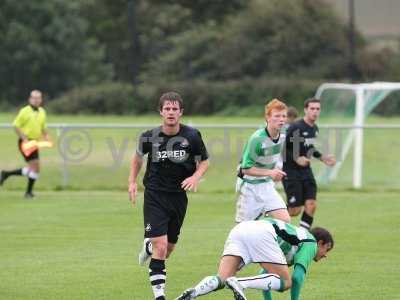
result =
[{"label": "official in yellow shirt and black shorts holding an orange flag", "polygon": [[30,140],[39,140],[42,138],[44,140],[49,140],[49,135],[46,129],[46,111],[41,107],[42,101],[42,92],[39,90],[33,90],[28,99],[29,104],[19,111],[13,123],[18,135],[19,151],[28,166],[22,169],[1,171],[0,173],[0,185],[2,185],[10,176],[26,176],[28,178],[28,185],[25,192],[25,198],[28,199],[34,197],[32,192],[33,186],[35,181],[39,178],[39,150],[35,150],[31,154],[25,155],[22,151],[22,144]]}]

